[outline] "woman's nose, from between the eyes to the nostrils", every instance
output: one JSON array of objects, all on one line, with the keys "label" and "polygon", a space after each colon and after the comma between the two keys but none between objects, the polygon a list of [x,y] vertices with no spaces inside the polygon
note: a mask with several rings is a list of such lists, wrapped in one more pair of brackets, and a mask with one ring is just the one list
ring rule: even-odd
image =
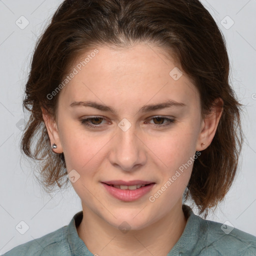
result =
[{"label": "woman's nose, from between the eyes to the nostrils", "polygon": [[109,154],[112,165],[124,171],[133,171],[145,164],[146,146],[143,139],[136,134],[133,125],[126,131],[118,127],[113,139]]}]

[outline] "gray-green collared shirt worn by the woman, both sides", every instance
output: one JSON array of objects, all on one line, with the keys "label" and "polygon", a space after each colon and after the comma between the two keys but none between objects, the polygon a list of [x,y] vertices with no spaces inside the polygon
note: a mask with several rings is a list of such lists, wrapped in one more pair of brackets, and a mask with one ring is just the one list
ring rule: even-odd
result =
[{"label": "gray-green collared shirt worn by the woman, both sides", "polygon": [[[187,222],[166,256],[256,256],[256,237],[239,229],[195,215],[183,204]],[[20,244],[3,256],[93,256],[77,234],[82,220],[77,212],[65,225],[40,238]]]}]

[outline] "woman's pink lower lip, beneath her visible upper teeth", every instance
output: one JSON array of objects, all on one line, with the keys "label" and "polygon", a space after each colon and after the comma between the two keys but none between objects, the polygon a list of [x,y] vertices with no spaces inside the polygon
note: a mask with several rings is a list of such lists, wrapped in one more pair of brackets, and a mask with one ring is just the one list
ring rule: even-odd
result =
[{"label": "woman's pink lower lip, beneath her visible upper teeth", "polygon": [[148,193],[155,183],[151,183],[146,186],[141,186],[140,188],[137,188],[135,190],[120,189],[114,186],[107,185],[105,183],[102,184],[113,197],[122,201],[134,201]]}]

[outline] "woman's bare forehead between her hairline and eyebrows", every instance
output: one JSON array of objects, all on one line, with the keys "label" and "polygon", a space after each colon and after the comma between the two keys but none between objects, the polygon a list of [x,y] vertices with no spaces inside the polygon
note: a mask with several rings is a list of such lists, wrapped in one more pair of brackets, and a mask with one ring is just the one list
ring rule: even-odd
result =
[{"label": "woman's bare forehead between her hairline and eyebrows", "polygon": [[66,102],[96,99],[109,103],[119,99],[124,104],[133,99],[133,103],[143,104],[150,99],[169,98],[198,101],[191,80],[163,49],[149,44],[95,49],[72,63],[70,72],[75,69],[76,74],[61,91]]}]

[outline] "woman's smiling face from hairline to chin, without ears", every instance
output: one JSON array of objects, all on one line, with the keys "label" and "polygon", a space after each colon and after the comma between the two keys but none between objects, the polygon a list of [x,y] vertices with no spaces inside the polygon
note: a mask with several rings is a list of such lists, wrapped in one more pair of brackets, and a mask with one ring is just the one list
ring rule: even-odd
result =
[{"label": "woman's smiling face from hairline to chin, without ears", "polygon": [[[205,142],[199,94],[157,47],[97,50],[70,69],[73,78],[59,92],[53,142],[72,170],[83,210],[113,226],[125,220],[140,229],[181,205],[191,159],[200,157],[195,151]],[[152,106],[167,101],[178,104]],[[153,184],[123,190],[103,183],[113,180]]]}]

